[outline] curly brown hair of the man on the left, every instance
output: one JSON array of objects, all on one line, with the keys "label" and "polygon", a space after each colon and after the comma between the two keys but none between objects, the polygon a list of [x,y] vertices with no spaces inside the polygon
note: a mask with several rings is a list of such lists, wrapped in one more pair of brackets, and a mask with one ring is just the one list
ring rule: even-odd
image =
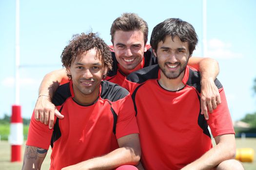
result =
[{"label": "curly brown hair of the man on the left", "polygon": [[[71,63],[75,61],[76,57],[89,51],[91,49],[96,49],[97,57],[101,56],[101,61],[104,67],[107,67],[108,70],[112,69],[112,55],[108,45],[98,37],[95,33],[89,34],[75,34],[72,36],[72,40],[69,41],[69,45],[67,45],[61,54],[61,62],[62,66],[68,68],[71,66]],[[71,75],[67,73],[69,79],[71,79]],[[103,75],[105,78],[106,75]]]}]

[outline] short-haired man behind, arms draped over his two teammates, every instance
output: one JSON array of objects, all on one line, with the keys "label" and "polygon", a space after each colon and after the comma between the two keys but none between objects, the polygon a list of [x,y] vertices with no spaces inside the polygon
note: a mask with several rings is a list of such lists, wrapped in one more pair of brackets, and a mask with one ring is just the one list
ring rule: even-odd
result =
[{"label": "short-haired man behind, arms draped over his two teammates", "polygon": [[[157,64],[156,57],[147,43],[148,25],[145,20],[134,13],[124,13],[114,20],[111,26],[113,70],[109,71],[105,80],[124,86],[125,77],[138,69]],[[200,70],[202,77],[201,109],[208,119],[210,112],[219,104],[220,98],[214,80],[218,74],[217,61],[210,58],[193,57],[188,65]],[[35,118],[52,128],[54,114],[63,118],[54,104],[52,96],[59,84],[68,78],[65,69],[56,70],[45,75],[40,88],[39,98],[35,106]]]}]

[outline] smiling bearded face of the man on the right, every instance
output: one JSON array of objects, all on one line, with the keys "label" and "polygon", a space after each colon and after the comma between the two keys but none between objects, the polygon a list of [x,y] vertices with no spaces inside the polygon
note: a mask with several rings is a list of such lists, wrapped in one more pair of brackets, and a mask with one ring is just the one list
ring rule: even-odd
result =
[{"label": "smiling bearded face of the man on the right", "polygon": [[157,51],[153,50],[158,58],[161,72],[168,79],[183,77],[184,69],[190,57],[188,42],[182,42],[178,36],[166,36],[165,41],[158,43]]}]

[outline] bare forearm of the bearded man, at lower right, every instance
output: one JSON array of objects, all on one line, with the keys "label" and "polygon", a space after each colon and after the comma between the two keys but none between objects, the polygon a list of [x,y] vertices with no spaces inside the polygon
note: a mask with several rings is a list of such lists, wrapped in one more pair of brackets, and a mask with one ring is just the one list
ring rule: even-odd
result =
[{"label": "bare forearm of the bearded man, at lower right", "polygon": [[234,135],[229,134],[228,136],[231,139],[230,142],[226,140],[218,143],[214,148],[182,170],[211,170],[225,160],[234,159],[236,154],[235,137],[232,140]]}]

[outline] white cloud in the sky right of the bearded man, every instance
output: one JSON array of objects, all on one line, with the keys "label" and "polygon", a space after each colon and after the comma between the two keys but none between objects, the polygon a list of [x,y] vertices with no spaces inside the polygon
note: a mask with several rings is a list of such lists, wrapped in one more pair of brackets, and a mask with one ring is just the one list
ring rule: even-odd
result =
[{"label": "white cloud in the sky right of the bearded man", "polygon": [[232,44],[223,42],[217,38],[208,41],[207,56],[211,58],[233,59],[242,58],[241,53],[232,51]]}]

